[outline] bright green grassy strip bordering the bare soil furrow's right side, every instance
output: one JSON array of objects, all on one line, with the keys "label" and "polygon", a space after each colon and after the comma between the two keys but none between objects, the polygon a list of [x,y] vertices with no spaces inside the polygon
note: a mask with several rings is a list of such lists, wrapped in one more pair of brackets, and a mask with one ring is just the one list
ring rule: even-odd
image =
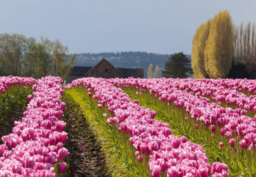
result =
[{"label": "bright green grassy strip bordering the bare soil furrow's right side", "polygon": [[99,135],[98,139],[102,142],[102,150],[105,152],[112,175],[116,177],[148,176],[147,169],[142,170],[145,164],[139,163],[135,157],[128,135],[118,132],[115,125],[108,124],[106,118],[102,116],[106,113],[111,117],[108,109],[105,106],[99,109],[97,100],[89,97],[84,87],[73,87],[65,92],[80,105],[90,128]]}]

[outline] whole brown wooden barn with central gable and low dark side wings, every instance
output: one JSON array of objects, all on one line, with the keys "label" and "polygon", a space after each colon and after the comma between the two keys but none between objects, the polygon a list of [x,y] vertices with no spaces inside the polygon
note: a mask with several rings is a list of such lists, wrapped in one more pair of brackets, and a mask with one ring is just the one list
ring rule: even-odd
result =
[{"label": "whole brown wooden barn with central gable and low dark side wings", "polygon": [[103,58],[94,67],[74,66],[67,78],[67,83],[77,78],[102,77],[102,78],[128,78],[144,77],[143,68],[116,68]]}]

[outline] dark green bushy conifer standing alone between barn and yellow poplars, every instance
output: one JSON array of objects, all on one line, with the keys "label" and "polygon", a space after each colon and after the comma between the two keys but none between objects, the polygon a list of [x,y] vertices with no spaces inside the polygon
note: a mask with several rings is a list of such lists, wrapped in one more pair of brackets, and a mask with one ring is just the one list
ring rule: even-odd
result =
[{"label": "dark green bushy conifer standing alone between barn and yellow poplars", "polygon": [[189,60],[186,55],[183,52],[174,53],[166,62],[162,75],[167,78],[187,78],[189,76],[189,69]]}]

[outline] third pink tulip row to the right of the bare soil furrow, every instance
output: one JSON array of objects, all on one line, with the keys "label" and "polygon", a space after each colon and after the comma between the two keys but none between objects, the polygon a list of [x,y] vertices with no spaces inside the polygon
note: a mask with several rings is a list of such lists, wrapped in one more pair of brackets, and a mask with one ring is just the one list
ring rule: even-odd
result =
[{"label": "third pink tulip row to the right of the bare soil furrow", "polygon": [[[234,89],[218,86],[212,79],[168,79],[170,85],[179,89],[193,91],[203,96],[209,96],[216,102],[226,102],[256,112],[256,95],[247,97]],[[209,81],[209,82],[208,82]],[[253,82],[256,85],[256,82]]]}]

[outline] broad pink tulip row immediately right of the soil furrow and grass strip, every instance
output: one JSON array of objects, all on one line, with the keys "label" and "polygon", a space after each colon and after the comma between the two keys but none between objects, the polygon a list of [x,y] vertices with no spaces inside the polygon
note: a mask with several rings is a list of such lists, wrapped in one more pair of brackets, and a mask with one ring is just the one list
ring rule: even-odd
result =
[{"label": "broad pink tulip row immediately right of the soil furrow and grass strip", "polygon": [[[207,177],[211,167],[203,148],[186,137],[171,135],[167,123],[154,119],[156,112],[133,103],[130,97],[120,88],[116,88],[110,80],[102,78],[81,78],[73,80],[67,89],[84,85],[89,96],[98,100],[98,107],[106,105],[113,115],[107,119],[109,124],[116,125],[119,132],[130,134],[130,143],[135,148],[138,162],[143,162],[149,155],[148,167],[152,177],[166,173],[170,177]],[[104,117],[107,115],[104,114]],[[213,177],[227,177],[227,165],[216,162],[212,165]]]}]

